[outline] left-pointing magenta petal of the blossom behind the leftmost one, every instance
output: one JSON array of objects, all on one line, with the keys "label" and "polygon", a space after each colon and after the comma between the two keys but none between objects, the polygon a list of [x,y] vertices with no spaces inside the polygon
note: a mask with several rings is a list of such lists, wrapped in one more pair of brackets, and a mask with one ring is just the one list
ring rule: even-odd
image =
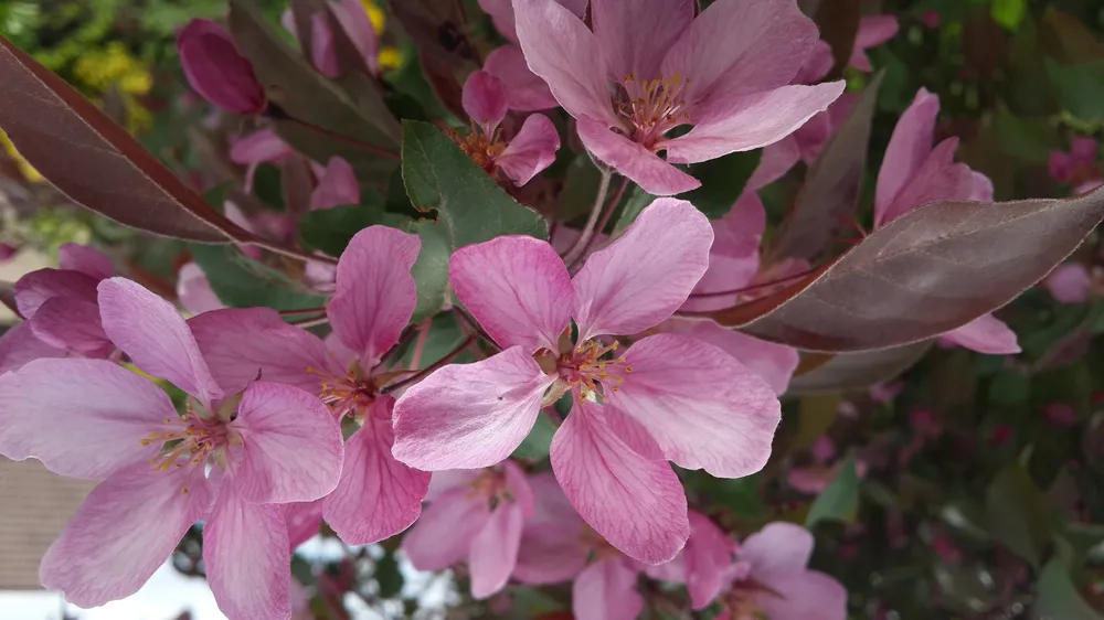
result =
[{"label": "left-pointing magenta petal of the blossom behind the leftmost one", "polygon": [[204,312],[189,319],[188,327],[226,394],[237,394],[257,378],[317,394],[323,374],[344,374],[317,335],[286,323],[270,308]]}]

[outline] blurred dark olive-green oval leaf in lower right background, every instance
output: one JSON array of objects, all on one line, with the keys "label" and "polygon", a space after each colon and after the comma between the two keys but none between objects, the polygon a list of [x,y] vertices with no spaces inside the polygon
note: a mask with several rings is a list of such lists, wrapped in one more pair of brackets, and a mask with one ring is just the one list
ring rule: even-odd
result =
[{"label": "blurred dark olive-green oval leaf in lower right background", "polygon": [[986,492],[989,532],[1016,555],[1039,566],[1050,541],[1047,501],[1018,460],[1008,463]]}]

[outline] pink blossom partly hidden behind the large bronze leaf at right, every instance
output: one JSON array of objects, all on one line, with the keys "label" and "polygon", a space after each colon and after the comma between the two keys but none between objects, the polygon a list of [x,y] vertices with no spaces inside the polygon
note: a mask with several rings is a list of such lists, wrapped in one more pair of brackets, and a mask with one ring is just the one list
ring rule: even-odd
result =
[{"label": "pink blossom partly hidden behind the large bronze leaf at right", "polygon": [[[940,98],[921,88],[901,115],[878,173],[875,228],[936,201],[992,200],[989,179],[965,163],[955,163],[957,138],[947,138],[932,147],[938,114]],[[942,340],[994,355],[1020,351],[1016,333],[992,314],[978,317],[943,334]]]}]

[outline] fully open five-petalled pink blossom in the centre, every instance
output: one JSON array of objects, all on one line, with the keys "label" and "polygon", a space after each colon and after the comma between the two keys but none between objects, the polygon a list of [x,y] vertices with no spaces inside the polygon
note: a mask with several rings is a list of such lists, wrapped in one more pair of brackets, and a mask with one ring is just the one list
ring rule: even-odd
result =
[{"label": "fully open five-petalled pink blossom in the centre", "polygon": [[[571,393],[552,441],[556,479],[582,517],[645,563],[669,560],[689,534],[668,460],[739,478],[766,462],[778,424],[771,387],[723,350],[661,333],[705,271],[712,229],[684,201],[660,199],[572,278],[546,242],[505,236],[458,249],[456,296],[502,352],[437,370],[395,405],[395,457],[418,469],[498,463],[542,405]],[[577,324],[572,342],[570,321]]]}]

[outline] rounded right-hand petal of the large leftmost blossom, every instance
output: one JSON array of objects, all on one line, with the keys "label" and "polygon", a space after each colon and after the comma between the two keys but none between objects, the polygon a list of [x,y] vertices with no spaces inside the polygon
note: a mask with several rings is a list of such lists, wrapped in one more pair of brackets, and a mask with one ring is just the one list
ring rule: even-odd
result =
[{"label": "rounded right-hand petal of the large leftmost blossom", "polygon": [[242,396],[226,453],[227,482],[250,502],[309,502],[341,477],[341,428],[316,396],[279,383],[254,382]]}]

